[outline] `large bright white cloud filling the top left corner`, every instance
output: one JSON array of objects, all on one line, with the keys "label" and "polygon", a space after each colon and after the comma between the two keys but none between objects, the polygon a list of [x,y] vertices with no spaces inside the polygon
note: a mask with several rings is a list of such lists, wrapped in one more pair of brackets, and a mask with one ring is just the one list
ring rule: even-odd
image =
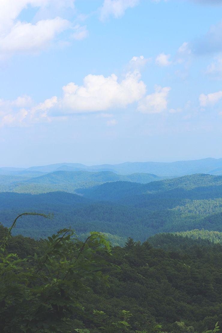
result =
[{"label": "large bright white cloud filling the top left corner", "polygon": [[60,17],[38,20],[36,24],[21,22],[17,17],[28,5],[38,9],[72,7],[74,0],[1,0],[0,51],[38,51],[48,46],[57,34],[71,28],[71,23]]}]

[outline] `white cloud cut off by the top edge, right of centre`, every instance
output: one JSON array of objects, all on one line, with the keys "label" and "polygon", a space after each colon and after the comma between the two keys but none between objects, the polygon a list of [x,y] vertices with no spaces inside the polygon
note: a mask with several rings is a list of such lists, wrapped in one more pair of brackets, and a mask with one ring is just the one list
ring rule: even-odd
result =
[{"label": "white cloud cut off by the top edge, right of centre", "polygon": [[105,21],[110,15],[121,17],[127,8],[133,8],[139,0],[104,0],[100,11],[100,19]]}]

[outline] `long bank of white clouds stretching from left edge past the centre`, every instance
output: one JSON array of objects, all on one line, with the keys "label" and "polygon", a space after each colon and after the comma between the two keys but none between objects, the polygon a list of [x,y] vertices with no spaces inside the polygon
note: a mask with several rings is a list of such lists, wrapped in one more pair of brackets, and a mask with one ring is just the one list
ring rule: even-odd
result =
[{"label": "long bank of white clouds stretching from left edge past the centre", "polygon": [[[145,61],[143,56],[133,57],[130,62]],[[141,65],[141,64],[140,64]],[[131,67],[131,66],[130,66]],[[137,103],[142,113],[160,113],[167,108],[170,87],[155,86],[155,92],[146,95],[146,85],[141,80],[138,69],[127,72],[121,80],[115,74],[87,75],[83,85],[74,82],[62,88],[63,94],[35,105],[29,96],[18,97],[13,101],[0,100],[1,126],[28,126],[36,123],[51,122],[53,115],[64,117],[68,114],[101,112],[101,117],[112,118],[109,110],[123,109]],[[114,119],[107,120],[107,126],[114,126]]]}]

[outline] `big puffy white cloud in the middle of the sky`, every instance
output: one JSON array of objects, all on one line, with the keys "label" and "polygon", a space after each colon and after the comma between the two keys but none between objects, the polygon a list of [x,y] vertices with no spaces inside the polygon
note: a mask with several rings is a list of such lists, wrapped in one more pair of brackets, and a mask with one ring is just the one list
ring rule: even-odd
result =
[{"label": "big puffy white cloud in the middle of the sky", "polygon": [[140,77],[138,71],[129,72],[118,82],[114,74],[109,77],[89,74],[84,78],[83,86],[70,82],[63,87],[61,108],[69,113],[124,108],[144,96],[146,87]]}]

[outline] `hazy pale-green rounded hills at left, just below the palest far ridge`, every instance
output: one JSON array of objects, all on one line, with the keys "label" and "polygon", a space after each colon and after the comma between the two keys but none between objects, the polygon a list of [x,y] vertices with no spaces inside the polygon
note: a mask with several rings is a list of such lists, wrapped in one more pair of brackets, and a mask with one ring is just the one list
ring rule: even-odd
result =
[{"label": "hazy pale-green rounded hills at left, just below the palest far ridge", "polygon": [[21,175],[0,174],[0,191],[31,194],[52,191],[75,193],[78,188],[88,188],[105,182],[129,181],[148,183],[163,178],[150,173],[119,175],[111,171],[55,171],[41,175],[39,175],[41,172],[36,172],[23,171]]}]

